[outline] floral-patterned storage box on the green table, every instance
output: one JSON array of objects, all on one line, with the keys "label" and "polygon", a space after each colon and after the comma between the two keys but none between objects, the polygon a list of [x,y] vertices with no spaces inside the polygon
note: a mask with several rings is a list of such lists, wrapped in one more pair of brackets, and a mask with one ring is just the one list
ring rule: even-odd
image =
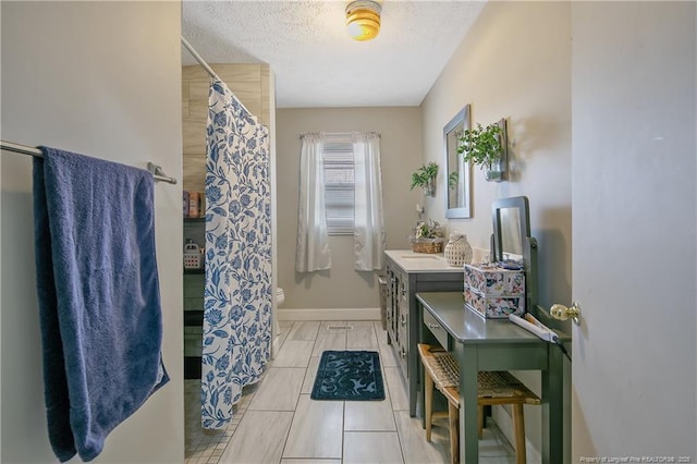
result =
[{"label": "floral-patterned storage box on the green table", "polygon": [[490,319],[525,314],[525,272],[496,265],[465,265],[465,306]]}]

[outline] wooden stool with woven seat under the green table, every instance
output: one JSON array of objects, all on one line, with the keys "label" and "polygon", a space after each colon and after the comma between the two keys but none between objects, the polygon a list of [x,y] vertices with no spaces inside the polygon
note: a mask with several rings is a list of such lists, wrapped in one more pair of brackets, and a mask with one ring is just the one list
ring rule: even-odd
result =
[{"label": "wooden stool with woven seat under the green table", "polygon": [[[433,386],[448,400],[448,426],[450,428],[451,462],[460,461],[460,366],[454,356],[440,347],[418,344],[418,355],[424,365],[424,416],[426,440],[431,441],[433,417],[445,413],[433,413]],[[508,371],[477,373],[477,417],[479,438],[484,428],[484,407],[494,404],[511,404],[515,431],[515,455],[517,464],[525,464],[524,404],[540,404],[540,399]]]}]

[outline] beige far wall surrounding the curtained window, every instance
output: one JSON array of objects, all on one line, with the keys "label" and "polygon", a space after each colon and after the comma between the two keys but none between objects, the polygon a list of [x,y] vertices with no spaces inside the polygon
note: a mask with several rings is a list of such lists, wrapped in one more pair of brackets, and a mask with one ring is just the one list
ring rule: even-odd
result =
[{"label": "beige far wall surrounding the curtained window", "polygon": [[[282,315],[289,308],[378,308],[372,272],[353,268],[353,239],[330,237],[332,269],[295,272],[299,135],[304,132],[375,131],[382,134],[383,209],[388,248],[407,248],[406,236],[416,221],[420,191],[409,192],[411,173],[421,164],[419,108],[308,108],[277,110],[278,281],[285,291]],[[347,312],[340,312],[348,317]]]}]

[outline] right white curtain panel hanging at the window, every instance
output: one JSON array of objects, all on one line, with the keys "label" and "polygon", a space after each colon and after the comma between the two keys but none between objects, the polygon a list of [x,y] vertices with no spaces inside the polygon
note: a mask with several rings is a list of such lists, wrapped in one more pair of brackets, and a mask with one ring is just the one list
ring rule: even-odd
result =
[{"label": "right white curtain panel hanging at the window", "polygon": [[384,224],[380,174],[380,135],[353,134],[355,169],[355,269],[370,271],[384,265]]}]

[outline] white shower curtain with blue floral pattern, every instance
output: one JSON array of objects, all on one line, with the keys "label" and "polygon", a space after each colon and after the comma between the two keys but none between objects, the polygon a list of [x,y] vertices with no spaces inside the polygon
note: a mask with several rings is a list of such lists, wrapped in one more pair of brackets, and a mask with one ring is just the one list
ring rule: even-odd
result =
[{"label": "white shower curtain with blue floral pattern", "polygon": [[270,358],[269,132],[216,80],[207,136],[201,425],[218,429]]}]

